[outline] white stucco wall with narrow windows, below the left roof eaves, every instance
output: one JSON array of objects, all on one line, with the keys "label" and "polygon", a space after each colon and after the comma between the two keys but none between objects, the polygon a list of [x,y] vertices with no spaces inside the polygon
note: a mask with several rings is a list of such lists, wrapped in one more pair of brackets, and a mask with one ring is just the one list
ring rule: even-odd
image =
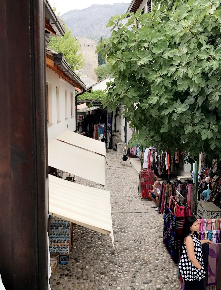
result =
[{"label": "white stucco wall with narrow windows, below the left roof eaves", "polygon": [[[48,142],[66,130],[76,129],[75,121],[75,87],[61,78],[50,68],[46,68],[46,80],[48,83],[49,97],[49,123]],[[57,89],[57,87],[59,89]],[[67,93],[67,112],[65,113],[65,90]],[[57,121],[57,92],[59,92],[59,121]],[[73,93],[73,105],[71,116],[71,93]],[[65,117],[65,114],[67,115]]]}]

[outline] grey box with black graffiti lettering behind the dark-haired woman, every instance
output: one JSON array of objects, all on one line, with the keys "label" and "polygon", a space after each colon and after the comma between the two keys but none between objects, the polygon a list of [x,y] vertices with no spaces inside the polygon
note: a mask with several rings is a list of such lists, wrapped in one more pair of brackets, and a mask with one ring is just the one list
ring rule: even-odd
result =
[{"label": "grey box with black graffiti lettering behind the dark-haired woman", "polygon": [[197,201],[197,219],[220,219],[221,209],[212,202]]}]

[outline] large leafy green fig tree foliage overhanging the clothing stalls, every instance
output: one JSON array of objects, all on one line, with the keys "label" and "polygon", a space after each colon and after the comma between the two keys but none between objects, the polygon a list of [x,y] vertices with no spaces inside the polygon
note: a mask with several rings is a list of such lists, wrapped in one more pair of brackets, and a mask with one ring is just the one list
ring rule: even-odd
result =
[{"label": "large leafy green fig tree foliage overhanging the clothing stalls", "polygon": [[126,15],[109,20],[112,35],[98,51],[115,80],[104,103],[125,105],[137,128],[131,144],[183,149],[189,160],[201,150],[221,157],[220,3],[162,0],[150,13],[131,13],[125,26]]}]

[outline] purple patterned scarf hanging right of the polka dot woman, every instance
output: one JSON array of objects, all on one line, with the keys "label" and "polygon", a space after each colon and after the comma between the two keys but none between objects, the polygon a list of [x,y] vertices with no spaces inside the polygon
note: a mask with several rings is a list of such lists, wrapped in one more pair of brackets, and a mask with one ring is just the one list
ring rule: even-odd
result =
[{"label": "purple patterned scarf hanging right of the polka dot woman", "polygon": [[207,290],[216,290],[218,244],[209,244]]}]

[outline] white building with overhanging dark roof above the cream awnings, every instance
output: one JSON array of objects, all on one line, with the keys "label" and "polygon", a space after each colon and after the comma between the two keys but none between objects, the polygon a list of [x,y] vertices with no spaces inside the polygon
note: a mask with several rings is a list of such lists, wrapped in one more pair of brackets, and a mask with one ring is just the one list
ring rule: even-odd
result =
[{"label": "white building with overhanging dark roof above the cream awnings", "polygon": [[46,48],[48,142],[76,129],[75,89],[85,84],[72,71],[63,54]]}]

